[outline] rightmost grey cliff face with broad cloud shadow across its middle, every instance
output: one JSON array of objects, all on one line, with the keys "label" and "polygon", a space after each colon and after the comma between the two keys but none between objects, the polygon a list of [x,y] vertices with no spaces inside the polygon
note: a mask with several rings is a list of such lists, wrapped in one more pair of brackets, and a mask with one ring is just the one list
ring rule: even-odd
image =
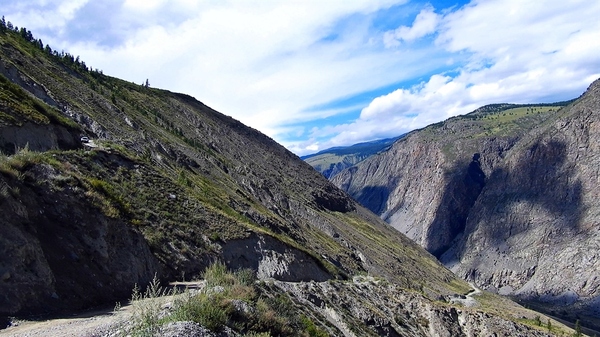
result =
[{"label": "rightmost grey cliff face with broad cloud shadow across its middle", "polygon": [[443,261],[488,289],[600,316],[600,83],[487,179]]}]

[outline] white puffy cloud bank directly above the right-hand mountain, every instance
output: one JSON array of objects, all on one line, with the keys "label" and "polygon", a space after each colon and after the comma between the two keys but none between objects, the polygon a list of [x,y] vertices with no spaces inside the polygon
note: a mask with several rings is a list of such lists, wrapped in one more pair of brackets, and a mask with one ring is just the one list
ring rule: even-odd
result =
[{"label": "white puffy cloud bank directly above the right-hand mountain", "polygon": [[577,97],[600,77],[599,16],[600,4],[586,1],[474,1],[440,18],[436,46],[468,55],[452,75],[377,97],[355,121],[336,132],[313,130],[313,139],[332,135],[323,149],[399,135],[485,104]]}]

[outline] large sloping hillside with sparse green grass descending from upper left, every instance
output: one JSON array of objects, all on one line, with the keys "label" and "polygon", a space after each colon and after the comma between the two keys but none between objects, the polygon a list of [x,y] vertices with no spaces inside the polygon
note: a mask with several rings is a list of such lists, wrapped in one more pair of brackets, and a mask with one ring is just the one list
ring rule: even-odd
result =
[{"label": "large sloping hillside with sparse green grass descending from upper left", "polygon": [[[569,331],[474,291],[260,132],[11,26],[0,25],[4,321],[114,305],[155,276],[196,279],[221,262],[256,274],[263,308],[295,308],[290,335]],[[232,320],[249,306],[227,303]]]}]

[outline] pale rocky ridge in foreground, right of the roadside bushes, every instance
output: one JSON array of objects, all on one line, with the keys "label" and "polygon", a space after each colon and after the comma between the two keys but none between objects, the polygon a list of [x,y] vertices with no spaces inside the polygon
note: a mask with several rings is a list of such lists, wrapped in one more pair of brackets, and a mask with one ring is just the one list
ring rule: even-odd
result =
[{"label": "pale rocky ridge in foreground, right of the roadside bushes", "polygon": [[[457,309],[370,277],[355,277],[345,283],[275,282],[275,285],[335,326],[338,331],[330,331],[332,335],[552,336],[547,331],[479,311],[477,307],[483,304],[477,300],[473,307]],[[521,320],[533,320],[535,315],[523,308],[507,313],[508,317]]]}]

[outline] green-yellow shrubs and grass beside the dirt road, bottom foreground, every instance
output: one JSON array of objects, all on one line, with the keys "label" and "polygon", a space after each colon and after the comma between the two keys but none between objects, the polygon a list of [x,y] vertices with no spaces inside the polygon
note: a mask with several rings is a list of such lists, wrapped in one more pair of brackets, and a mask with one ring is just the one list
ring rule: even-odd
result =
[{"label": "green-yellow shrubs and grass beside the dirt road, bottom foreground", "polygon": [[[204,271],[205,287],[197,293],[167,293],[155,280],[141,293],[136,287],[132,302],[134,314],[129,336],[156,336],[168,322],[192,321],[219,332],[225,326],[244,336],[327,336],[307,316],[300,315],[290,297],[275,288],[261,287],[252,270],[227,270],[216,262]],[[273,291],[276,293],[273,296]],[[175,295],[170,311],[162,309]]]}]

